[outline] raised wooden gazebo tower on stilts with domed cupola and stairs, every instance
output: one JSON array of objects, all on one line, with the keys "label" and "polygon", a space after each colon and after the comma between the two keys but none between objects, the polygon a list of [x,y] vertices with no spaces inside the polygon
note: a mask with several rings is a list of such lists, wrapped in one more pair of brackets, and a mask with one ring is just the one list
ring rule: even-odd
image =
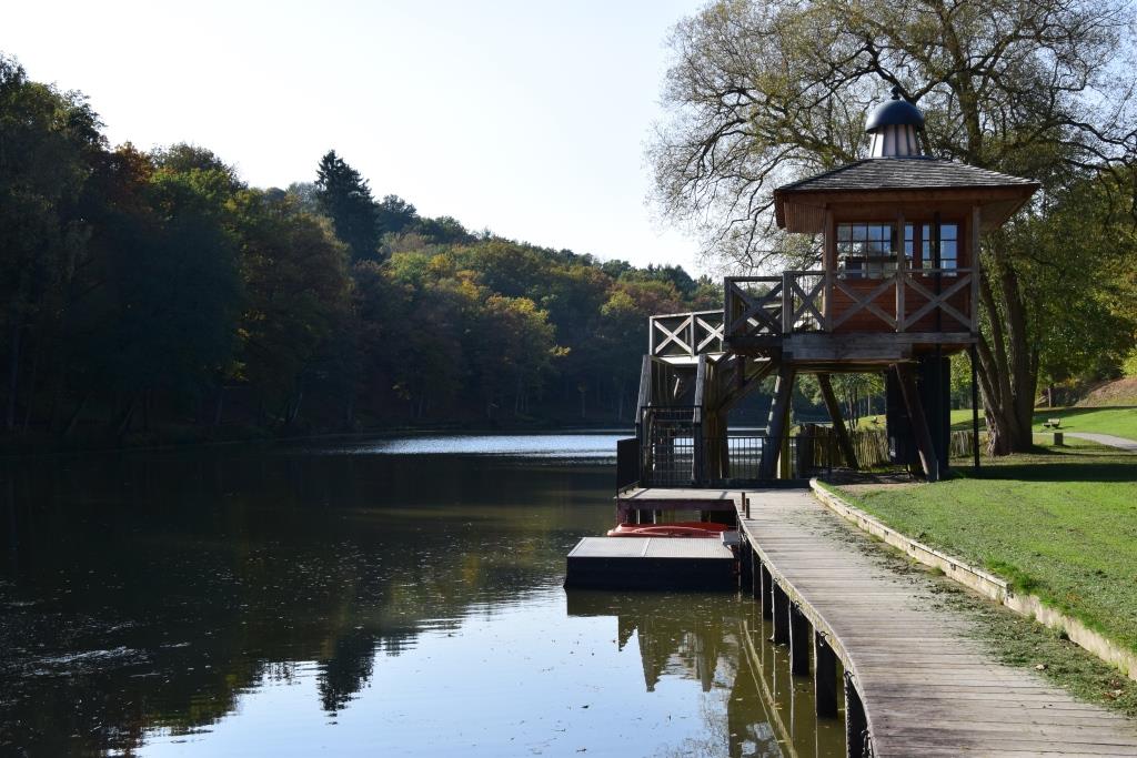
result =
[{"label": "raised wooden gazebo tower on stilts with domed cupola and stairs", "polygon": [[[819,376],[852,465],[831,373],[883,372],[894,456],[915,463],[914,453],[930,480],[946,466],[947,357],[977,341],[980,233],[1038,184],[928,157],[923,116],[897,90],[865,128],[869,158],[774,191],[779,227],[821,235],[820,269],[728,277],[723,311],[650,319],[639,400],[645,483],[739,478],[727,414],[767,376],[777,381],[756,478],[773,478],[802,373]],[[680,440],[689,451],[677,450]]]}]

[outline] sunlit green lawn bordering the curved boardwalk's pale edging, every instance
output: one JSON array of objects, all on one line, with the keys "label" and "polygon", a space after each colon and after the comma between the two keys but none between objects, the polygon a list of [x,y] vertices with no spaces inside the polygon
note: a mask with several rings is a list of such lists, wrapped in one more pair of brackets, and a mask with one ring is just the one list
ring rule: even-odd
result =
[{"label": "sunlit green lawn bordering the curved boardwalk's pale edging", "polygon": [[1135,485],[1137,456],[1069,440],[1065,448],[985,460],[979,472],[936,484],[838,491],[894,528],[1137,651]]}]

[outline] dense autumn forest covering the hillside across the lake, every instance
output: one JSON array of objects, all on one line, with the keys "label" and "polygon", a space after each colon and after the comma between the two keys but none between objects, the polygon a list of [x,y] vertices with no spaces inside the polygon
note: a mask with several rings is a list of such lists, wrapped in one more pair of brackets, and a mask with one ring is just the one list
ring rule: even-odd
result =
[{"label": "dense autumn forest covering the hillside across the lake", "polygon": [[287,189],[204,147],[111,147],[0,58],[2,427],[166,440],[630,423],[682,268],[429,218],[329,151]]}]

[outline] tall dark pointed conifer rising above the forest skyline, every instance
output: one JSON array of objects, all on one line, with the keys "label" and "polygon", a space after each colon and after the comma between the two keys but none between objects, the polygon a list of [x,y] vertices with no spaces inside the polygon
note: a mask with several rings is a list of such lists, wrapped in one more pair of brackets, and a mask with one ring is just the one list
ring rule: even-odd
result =
[{"label": "tall dark pointed conifer rising above the forest skyline", "polygon": [[348,245],[351,260],[379,258],[377,208],[367,180],[329,150],[316,169],[316,197],[332,219],[335,235]]}]

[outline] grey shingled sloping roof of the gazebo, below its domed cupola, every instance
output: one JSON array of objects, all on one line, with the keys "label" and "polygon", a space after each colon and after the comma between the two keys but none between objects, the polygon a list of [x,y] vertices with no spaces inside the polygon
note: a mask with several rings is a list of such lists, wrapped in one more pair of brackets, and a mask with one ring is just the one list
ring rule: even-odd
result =
[{"label": "grey shingled sloping roof of the gazebo, below its domed cupola", "polygon": [[843,190],[944,190],[974,186],[1034,186],[1030,180],[936,158],[866,158],[783,184],[783,192],[839,192]]}]

